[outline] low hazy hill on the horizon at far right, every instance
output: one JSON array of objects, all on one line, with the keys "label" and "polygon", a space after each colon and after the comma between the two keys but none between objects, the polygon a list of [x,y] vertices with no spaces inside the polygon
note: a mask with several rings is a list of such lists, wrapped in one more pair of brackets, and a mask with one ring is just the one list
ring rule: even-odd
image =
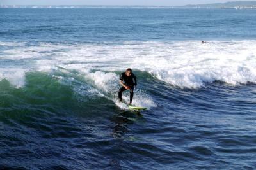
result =
[{"label": "low hazy hill on the horizon at far right", "polygon": [[181,8],[256,8],[256,1],[232,1],[214,4],[188,4]]}]

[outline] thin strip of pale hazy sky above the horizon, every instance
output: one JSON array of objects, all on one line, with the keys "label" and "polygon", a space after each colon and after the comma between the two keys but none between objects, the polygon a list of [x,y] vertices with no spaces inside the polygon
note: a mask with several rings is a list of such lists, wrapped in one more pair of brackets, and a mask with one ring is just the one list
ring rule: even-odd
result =
[{"label": "thin strip of pale hazy sky above the horizon", "polygon": [[[232,1],[232,0],[230,0]],[[246,1],[246,0],[236,0]],[[248,0],[247,0],[248,1]],[[2,5],[166,5],[224,3],[227,0],[0,0]]]}]

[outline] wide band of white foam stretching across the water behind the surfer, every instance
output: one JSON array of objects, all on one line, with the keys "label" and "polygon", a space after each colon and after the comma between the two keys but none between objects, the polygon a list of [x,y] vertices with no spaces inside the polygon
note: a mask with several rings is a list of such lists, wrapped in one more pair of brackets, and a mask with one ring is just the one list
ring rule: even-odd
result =
[{"label": "wide band of white foam stretching across the water behind the surfer", "polygon": [[[200,41],[128,41],[118,45],[41,43],[26,48],[22,44],[1,52],[0,57],[42,70],[63,66],[106,73],[132,67],[177,87],[200,88],[215,80],[232,85],[256,83],[256,41],[253,40],[206,44]],[[99,73],[88,76],[102,90],[111,89],[100,81]],[[113,80],[115,75],[108,76]]]}]

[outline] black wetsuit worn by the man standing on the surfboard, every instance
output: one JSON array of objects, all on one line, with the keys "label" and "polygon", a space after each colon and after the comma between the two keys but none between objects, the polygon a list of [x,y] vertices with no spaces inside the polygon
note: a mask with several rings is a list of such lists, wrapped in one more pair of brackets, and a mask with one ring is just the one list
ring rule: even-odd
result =
[{"label": "black wetsuit worn by the man standing on the surfboard", "polygon": [[[134,76],[134,74],[131,74],[131,76],[127,76],[125,74],[125,72],[124,72],[124,73],[121,74],[120,80],[124,81],[124,84],[131,88],[130,89],[130,103],[132,103],[134,85],[135,86],[137,85],[136,76]],[[122,93],[125,90],[127,90],[127,89],[125,89],[125,87],[123,87],[123,86],[119,89],[119,91],[118,91],[118,99],[122,100]]]}]

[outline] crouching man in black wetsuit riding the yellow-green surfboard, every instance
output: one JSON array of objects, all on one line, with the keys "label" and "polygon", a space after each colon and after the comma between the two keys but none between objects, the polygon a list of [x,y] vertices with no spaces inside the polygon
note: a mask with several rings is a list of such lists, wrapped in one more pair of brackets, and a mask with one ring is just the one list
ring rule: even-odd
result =
[{"label": "crouching man in black wetsuit riding the yellow-green surfboard", "polygon": [[122,93],[130,90],[130,104],[132,104],[134,86],[137,86],[136,76],[132,73],[132,69],[126,69],[120,76],[120,84],[122,87],[118,91],[118,99],[122,101]]}]

